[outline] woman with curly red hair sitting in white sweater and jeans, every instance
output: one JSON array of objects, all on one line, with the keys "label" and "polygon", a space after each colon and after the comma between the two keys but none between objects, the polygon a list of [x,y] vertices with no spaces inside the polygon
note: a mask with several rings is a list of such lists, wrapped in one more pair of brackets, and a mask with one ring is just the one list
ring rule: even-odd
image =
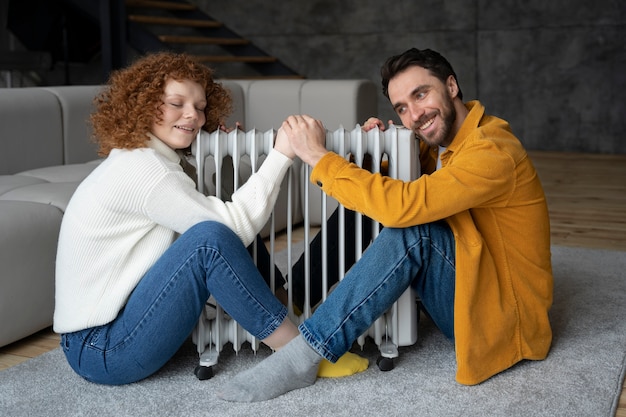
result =
[{"label": "woman with curly red hair sitting in white sweater and jeans", "polygon": [[87,380],[125,384],[160,369],[213,296],[273,349],[298,334],[246,250],[294,154],[278,132],[257,173],[223,202],[196,190],[177,152],[231,110],[212,71],[158,53],[112,74],[92,115],[106,158],[63,217],[54,329]]}]

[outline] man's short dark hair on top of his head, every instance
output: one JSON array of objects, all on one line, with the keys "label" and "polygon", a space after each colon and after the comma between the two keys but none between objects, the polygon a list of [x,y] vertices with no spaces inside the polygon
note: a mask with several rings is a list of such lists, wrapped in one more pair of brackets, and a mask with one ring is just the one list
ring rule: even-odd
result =
[{"label": "man's short dark hair on top of his head", "polygon": [[[444,84],[449,76],[453,76],[459,85],[459,79],[456,77],[452,65],[439,52],[432,49],[411,48],[400,55],[394,55],[383,64],[380,69],[380,76],[383,84],[383,94],[389,98],[389,80],[398,75],[400,72],[412,66],[420,66],[430,71],[430,73],[439,78]],[[463,99],[463,92],[459,85],[460,99]]]}]

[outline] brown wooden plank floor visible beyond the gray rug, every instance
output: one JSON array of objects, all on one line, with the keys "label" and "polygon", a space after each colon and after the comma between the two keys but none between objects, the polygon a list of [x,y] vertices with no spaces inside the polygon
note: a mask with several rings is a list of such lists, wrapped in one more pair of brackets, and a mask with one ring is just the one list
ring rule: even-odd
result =
[{"label": "brown wooden plank floor visible beyond the gray rug", "polygon": [[[626,251],[626,155],[530,152],[530,156],[545,188],[553,244]],[[0,370],[58,345],[59,337],[46,329],[2,347]],[[626,389],[616,417],[626,417]]]}]

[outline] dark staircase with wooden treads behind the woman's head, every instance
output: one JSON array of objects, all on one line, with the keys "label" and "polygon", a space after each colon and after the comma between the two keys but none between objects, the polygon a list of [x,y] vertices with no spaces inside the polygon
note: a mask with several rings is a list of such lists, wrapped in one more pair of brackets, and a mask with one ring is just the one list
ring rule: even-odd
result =
[{"label": "dark staircase with wooden treads behind the woman's head", "polygon": [[[22,1],[22,7],[27,7]],[[32,7],[42,7],[43,0],[27,1],[32,2]],[[111,70],[129,63],[128,51],[143,55],[165,50],[196,57],[215,70],[216,78],[305,78],[183,0],[48,0],[44,3],[47,7],[58,4],[55,7],[66,10],[65,15],[76,11],[99,26],[105,78]],[[69,42],[77,39],[80,34],[74,33]],[[65,49],[71,47],[64,45]]]}]

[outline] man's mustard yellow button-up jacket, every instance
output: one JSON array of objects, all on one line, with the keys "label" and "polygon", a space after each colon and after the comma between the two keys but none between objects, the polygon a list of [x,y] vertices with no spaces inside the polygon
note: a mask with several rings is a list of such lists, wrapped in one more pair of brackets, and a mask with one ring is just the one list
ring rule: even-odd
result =
[{"label": "man's mustard yellow button-up jacket", "polygon": [[550,225],[543,188],[507,122],[478,101],[435,171],[420,144],[422,176],[411,182],[324,156],[311,181],[385,227],[445,219],[456,239],[456,380],[478,384],[522,359],[544,359],[552,330]]}]

